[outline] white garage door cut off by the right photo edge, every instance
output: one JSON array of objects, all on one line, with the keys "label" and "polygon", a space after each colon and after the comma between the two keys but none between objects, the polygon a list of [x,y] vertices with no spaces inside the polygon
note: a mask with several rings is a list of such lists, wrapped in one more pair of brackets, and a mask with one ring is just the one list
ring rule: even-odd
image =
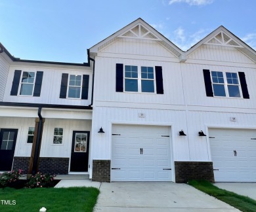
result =
[{"label": "white garage door cut off by the right photo edge", "polygon": [[209,130],[215,181],[256,182],[256,130]]}]

